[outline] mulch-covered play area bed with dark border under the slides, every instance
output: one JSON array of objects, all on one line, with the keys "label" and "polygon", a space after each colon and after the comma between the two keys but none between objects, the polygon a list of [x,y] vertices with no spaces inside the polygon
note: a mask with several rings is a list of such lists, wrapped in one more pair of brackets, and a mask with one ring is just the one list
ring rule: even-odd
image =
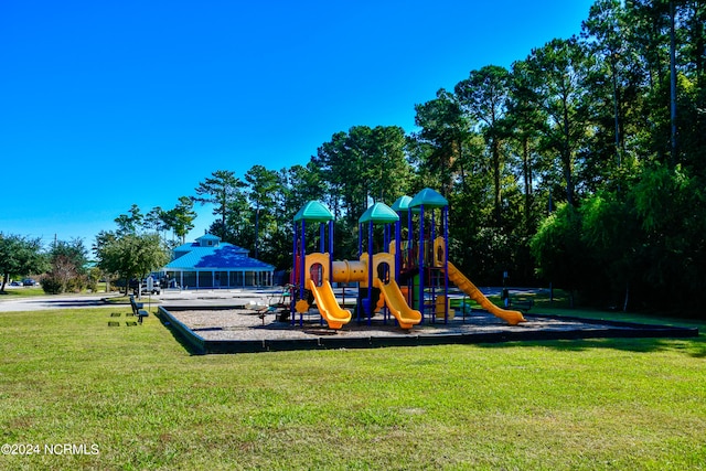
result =
[{"label": "mulch-covered play area bed with dark border under the slides", "polygon": [[321,324],[312,310],[300,322],[280,321],[279,312],[238,308],[160,307],[159,318],[194,354],[290,350],[372,349],[438,344],[498,343],[614,338],[691,338],[697,329],[638,324],[546,314],[525,314],[527,322],[507,325],[485,311],[457,315],[447,323],[428,319],[406,331],[395,319],[376,314],[370,322],[353,319],[340,330]]}]

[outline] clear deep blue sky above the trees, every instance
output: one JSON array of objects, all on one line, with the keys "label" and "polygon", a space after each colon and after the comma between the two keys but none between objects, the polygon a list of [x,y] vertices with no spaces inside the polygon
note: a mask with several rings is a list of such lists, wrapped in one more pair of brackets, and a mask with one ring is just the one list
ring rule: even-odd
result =
[{"label": "clear deep blue sky above the trees", "polygon": [[[306,164],[352,126],[578,34],[592,1],[3,0],[0,232],[87,247],[216,170]],[[211,208],[196,205],[203,234]]]}]

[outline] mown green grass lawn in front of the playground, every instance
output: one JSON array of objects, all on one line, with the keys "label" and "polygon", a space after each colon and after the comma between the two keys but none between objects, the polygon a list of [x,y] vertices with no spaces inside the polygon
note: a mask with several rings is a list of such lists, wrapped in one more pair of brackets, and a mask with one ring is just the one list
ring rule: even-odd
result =
[{"label": "mown green grass lawn in front of the playground", "polygon": [[0,445],[40,451],[0,469],[706,469],[703,333],[192,356],[128,312],[0,312]]}]

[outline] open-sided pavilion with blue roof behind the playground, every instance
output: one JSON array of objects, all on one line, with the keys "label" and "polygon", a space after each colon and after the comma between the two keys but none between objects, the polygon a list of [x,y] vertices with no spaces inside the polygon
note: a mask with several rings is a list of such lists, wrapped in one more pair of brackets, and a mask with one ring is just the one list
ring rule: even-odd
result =
[{"label": "open-sided pavilion with blue roof behind the playground", "polygon": [[161,271],[169,286],[175,282],[184,289],[272,286],[275,267],[248,255],[245,248],[205,234],[174,248],[172,261]]}]

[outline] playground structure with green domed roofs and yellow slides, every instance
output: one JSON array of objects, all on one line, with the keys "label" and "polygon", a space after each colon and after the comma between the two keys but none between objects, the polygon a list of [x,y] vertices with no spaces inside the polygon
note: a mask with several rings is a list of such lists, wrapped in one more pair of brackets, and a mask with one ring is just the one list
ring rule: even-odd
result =
[{"label": "playground structure with green domed roofs and yellow slides", "polygon": [[[425,319],[448,322],[453,317],[449,282],[510,325],[525,321],[520,311],[493,304],[449,261],[448,202],[436,191],[425,189],[414,197],[402,196],[392,207],[382,202],[370,206],[359,218],[357,260],[333,260],[333,214],[315,201],[295,216],[292,324],[297,313],[302,322],[313,301],[330,329],[341,329],[353,319],[351,311],[339,304],[332,282],[357,283],[359,323],[370,324],[381,310],[385,321],[389,313],[405,330]],[[311,224],[319,225],[319,251],[308,254],[307,228]],[[376,237],[378,251],[374,249]]]}]

